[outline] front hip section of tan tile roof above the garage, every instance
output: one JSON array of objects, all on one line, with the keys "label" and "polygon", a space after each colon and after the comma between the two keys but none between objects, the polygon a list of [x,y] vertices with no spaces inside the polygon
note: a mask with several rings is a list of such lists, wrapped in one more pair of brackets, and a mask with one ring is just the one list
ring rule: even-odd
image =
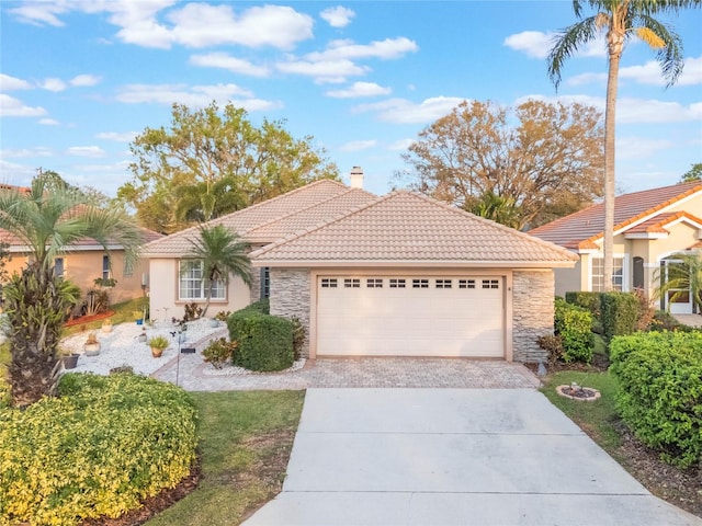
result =
[{"label": "front hip section of tan tile roof above the garage", "polygon": [[571,266],[577,256],[445,203],[399,191],[251,253],[258,266]]}]

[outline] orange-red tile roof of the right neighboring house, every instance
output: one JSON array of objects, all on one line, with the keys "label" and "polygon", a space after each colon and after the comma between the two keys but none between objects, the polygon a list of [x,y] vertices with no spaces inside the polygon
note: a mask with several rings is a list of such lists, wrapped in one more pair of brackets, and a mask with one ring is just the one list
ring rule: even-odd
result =
[{"label": "orange-red tile roof of the right neighboring house", "polygon": [[[614,199],[614,232],[631,231],[650,220],[653,222],[644,228],[663,228],[665,221],[671,217],[665,215],[671,206],[698,194],[702,194],[701,181],[620,195]],[[579,250],[598,248],[597,242],[602,238],[603,230],[604,204],[599,203],[534,228],[529,233],[568,249]]]}]

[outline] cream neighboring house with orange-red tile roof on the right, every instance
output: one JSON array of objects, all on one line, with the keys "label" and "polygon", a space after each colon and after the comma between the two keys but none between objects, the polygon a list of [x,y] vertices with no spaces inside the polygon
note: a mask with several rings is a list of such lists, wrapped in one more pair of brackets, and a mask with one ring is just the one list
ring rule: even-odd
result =
[{"label": "cream neighboring house with orange-red tile roof on the right", "polygon": [[[604,206],[592,205],[529,233],[559,244],[577,254],[574,268],[555,271],[556,294],[570,290],[603,290],[602,241]],[[677,253],[702,250],[702,182],[664,186],[620,195],[614,204],[614,276],[616,290],[644,290],[652,297]],[[692,313],[690,295],[660,308],[673,313]]]}]

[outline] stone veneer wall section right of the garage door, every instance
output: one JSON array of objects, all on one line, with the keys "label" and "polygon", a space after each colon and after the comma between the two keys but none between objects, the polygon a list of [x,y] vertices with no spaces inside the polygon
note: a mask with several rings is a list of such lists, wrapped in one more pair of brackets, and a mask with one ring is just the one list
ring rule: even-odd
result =
[{"label": "stone veneer wall section right of the garage door", "polygon": [[555,281],[553,271],[512,274],[512,354],[514,362],[546,361],[536,339],[553,334]]}]

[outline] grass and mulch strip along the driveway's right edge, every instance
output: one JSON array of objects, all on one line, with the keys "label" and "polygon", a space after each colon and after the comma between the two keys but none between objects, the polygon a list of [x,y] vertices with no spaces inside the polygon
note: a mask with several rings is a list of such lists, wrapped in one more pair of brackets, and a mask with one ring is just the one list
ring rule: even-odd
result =
[{"label": "grass and mulch strip along the driveway's right edge", "polygon": [[[614,458],[648,491],[669,503],[702,517],[700,469],[681,470],[660,460],[657,451],[642,445],[621,422],[614,410],[616,377],[603,371],[561,370],[542,379],[541,391]],[[598,389],[602,397],[582,402],[561,397],[556,387],[576,381]]]}]

